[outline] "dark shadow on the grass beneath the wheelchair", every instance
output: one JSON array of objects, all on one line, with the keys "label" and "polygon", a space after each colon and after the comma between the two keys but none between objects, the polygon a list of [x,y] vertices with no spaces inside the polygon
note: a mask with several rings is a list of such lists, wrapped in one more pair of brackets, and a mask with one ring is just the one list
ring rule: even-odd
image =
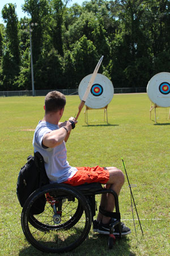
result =
[{"label": "dark shadow on the grass beneath the wheelchair", "polygon": [[93,234],[92,237],[87,238],[80,246],[76,247],[73,251],[68,253],[42,253],[32,245],[20,250],[19,256],[52,256],[52,255],[63,255],[63,256],[96,256],[96,255],[107,255],[107,256],[135,256],[136,254],[130,250],[129,238],[123,237],[122,240],[116,240],[116,244],[113,249],[108,248],[108,236],[101,234]]}]

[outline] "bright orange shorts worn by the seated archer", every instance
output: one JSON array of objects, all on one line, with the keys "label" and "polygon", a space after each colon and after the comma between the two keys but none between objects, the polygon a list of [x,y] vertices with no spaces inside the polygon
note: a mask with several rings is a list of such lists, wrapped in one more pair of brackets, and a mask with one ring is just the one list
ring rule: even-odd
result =
[{"label": "bright orange shorts worn by the seated archer", "polygon": [[63,182],[73,186],[78,186],[87,183],[99,182],[101,184],[107,183],[109,180],[109,171],[104,170],[103,167],[76,167],[76,174],[69,180]]}]

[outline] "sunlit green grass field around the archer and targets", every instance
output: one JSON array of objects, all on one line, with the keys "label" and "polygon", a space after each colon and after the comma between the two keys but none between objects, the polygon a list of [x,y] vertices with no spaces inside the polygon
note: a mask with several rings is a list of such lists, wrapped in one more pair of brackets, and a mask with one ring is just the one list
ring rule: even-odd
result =
[{"label": "sunlit green grass field around the archer and targets", "polygon": [[[67,96],[62,121],[78,112],[79,97]],[[16,197],[16,181],[27,156],[33,154],[33,130],[44,115],[44,97],[1,97],[1,205],[0,255],[39,256],[42,253],[25,241],[20,215],[22,208]],[[108,106],[108,122],[103,110],[84,113],[67,142],[67,156],[72,166],[116,166],[126,164],[133,188],[135,204],[141,219],[144,236],[138,221],[133,226],[130,189],[125,179],[120,195],[121,218],[132,233],[117,242],[114,249],[107,246],[108,237],[91,232],[82,245],[63,255],[169,255],[169,109],[154,111],[150,121],[150,101],[147,94],[114,95]],[[124,170],[123,170],[124,171]],[[134,214],[137,219],[136,214]],[[160,219],[160,220],[158,220]]]}]

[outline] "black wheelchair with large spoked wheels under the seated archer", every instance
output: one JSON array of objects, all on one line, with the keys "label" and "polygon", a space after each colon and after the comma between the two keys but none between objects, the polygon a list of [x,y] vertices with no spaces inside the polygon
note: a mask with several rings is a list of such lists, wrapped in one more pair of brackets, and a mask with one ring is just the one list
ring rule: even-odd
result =
[{"label": "black wheelchair with large spoked wheels under the seated archer", "polygon": [[[36,155],[39,168],[44,159]],[[73,187],[68,184],[47,184],[36,189],[24,204],[21,216],[25,238],[32,246],[45,253],[66,253],[78,247],[88,236],[96,214],[95,196],[111,193],[115,200],[115,212],[99,211],[107,217],[116,218],[111,225],[108,246],[114,244],[113,228],[118,225],[121,237],[121,216],[117,193],[105,189],[100,183]],[[39,214],[34,214],[37,208]]]}]

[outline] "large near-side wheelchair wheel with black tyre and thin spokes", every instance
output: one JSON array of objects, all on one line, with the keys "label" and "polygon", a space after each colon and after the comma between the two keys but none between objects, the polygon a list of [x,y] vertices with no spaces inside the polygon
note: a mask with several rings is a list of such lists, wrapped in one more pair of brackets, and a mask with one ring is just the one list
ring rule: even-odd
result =
[{"label": "large near-side wheelchair wheel with black tyre and thin spokes", "polygon": [[[31,207],[43,195],[43,213],[33,216]],[[90,232],[91,209],[79,191],[69,185],[47,185],[32,193],[22,210],[22,229],[28,242],[46,253],[62,253],[79,246]]]}]

